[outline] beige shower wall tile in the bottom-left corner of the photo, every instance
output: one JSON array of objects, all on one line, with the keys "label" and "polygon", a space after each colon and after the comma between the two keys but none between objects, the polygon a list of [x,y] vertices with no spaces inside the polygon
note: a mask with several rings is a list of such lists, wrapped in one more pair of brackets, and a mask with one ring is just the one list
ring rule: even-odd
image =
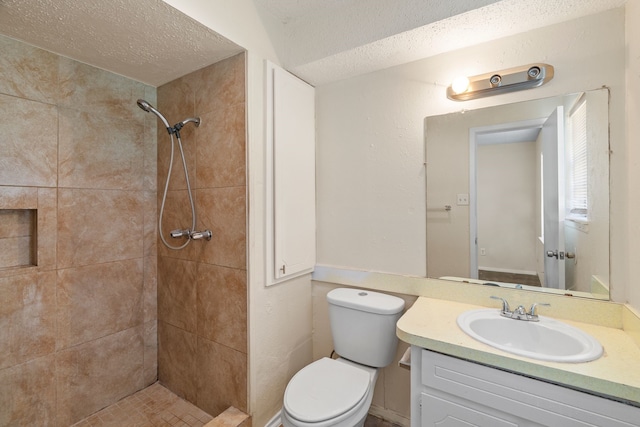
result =
[{"label": "beige shower wall tile in the bottom-left corner of the photo", "polygon": [[0,425],[55,426],[53,355],[0,369]]}]

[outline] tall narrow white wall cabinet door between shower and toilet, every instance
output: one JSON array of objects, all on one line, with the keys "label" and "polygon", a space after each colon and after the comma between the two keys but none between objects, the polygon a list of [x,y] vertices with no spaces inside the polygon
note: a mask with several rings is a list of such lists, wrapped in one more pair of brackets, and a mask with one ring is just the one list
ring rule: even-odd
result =
[{"label": "tall narrow white wall cabinet door between shower and toilet", "polygon": [[267,262],[277,283],[315,266],[315,89],[273,65],[268,78],[273,256]]}]

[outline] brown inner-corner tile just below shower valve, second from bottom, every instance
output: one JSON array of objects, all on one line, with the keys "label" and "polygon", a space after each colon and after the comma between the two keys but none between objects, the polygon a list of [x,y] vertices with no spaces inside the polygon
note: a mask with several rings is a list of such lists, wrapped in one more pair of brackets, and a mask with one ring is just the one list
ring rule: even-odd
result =
[{"label": "brown inner-corner tile just below shower valve, second from bottom", "polygon": [[197,326],[196,268],[192,261],[158,260],[158,319],[191,333]]}]

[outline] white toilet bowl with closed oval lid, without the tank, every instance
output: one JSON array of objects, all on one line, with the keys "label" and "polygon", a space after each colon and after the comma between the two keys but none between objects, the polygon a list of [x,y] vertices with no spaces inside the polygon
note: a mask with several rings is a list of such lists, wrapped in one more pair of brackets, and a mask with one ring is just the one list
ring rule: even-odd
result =
[{"label": "white toilet bowl with closed oval lid, without the tank", "polygon": [[378,369],[345,359],[322,358],[287,385],[284,427],[361,427],[367,418]]}]

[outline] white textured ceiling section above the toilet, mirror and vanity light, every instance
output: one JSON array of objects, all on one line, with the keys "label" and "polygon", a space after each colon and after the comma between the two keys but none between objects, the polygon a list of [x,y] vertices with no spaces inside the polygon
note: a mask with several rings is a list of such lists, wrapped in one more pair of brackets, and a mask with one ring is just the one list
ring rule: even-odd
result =
[{"label": "white textured ceiling section above the toilet, mirror and vanity light", "polygon": [[329,0],[322,9],[318,3],[325,1],[254,2],[283,66],[320,85],[599,13],[625,0]]}]

